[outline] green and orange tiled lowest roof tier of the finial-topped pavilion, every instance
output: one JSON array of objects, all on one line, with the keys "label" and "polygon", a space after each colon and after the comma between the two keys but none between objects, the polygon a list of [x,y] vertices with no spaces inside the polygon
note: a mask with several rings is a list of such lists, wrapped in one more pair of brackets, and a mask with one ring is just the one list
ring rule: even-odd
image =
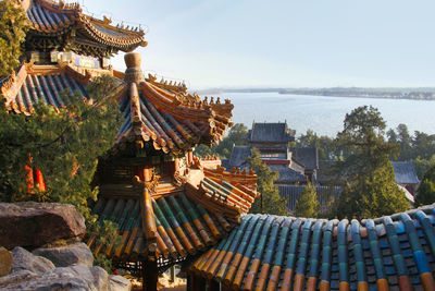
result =
[{"label": "green and orange tiled lowest roof tier of the finial-topped pavilion", "polygon": [[[158,257],[178,259],[188,254],[203,252],[234,227],[223,215],[217,214],[217,217],[187,198],[184,193],[151,199],[157,227]],[[117,223],[121,237],[121,244],[116,248],[111,245],[105,250],[101,250],[101,245],[92,245],[96,238],[89,238],[87,243],[95,246],[95,254],[101,252],[126,262],[137,262],[139,257],[148,256],[139,199],[101,197],[92,214],[99,215],[101,220],[108,219]]]}]

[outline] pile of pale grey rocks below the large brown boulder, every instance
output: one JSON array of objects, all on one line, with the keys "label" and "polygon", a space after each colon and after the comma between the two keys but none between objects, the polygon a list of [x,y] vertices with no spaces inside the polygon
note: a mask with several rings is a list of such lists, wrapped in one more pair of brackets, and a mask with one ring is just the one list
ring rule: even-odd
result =
[{"label": "pile of pale grey rocks below the large brown boulder", "polygon": [[[65,264],[69,259],[76,262],[73,263],[75,265],[65,267],[54,267],[48,258],[34,255],[22,247],[15,247],[12,251],[12,272],[0,277],[0,290],[129,291],[132,289],[127,279],[121,276],[109,276],[104,269],[89,266],[89,259],[84,257],[88,256],[90,250],[85,244],[75,243],[71,245],[72,250],[67,250],[69,247],[54,247],[58,250],[54,252],[50,252],[49,248],[39,248],[35,252],[49,254],[58,264]],[[62,250],[59,251],[59,248]],[[57,258],[55,254],[60,254],[62,259]]]}]

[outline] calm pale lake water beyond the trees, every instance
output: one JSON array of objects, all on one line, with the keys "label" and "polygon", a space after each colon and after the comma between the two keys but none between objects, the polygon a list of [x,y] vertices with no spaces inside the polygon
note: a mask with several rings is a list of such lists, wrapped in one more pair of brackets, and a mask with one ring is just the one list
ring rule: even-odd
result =
[{"label": "calm pale lake water beyond the trees", "polygon": [[233,121],[251,128],[256,122],[284,122],[296,134],[313,130],[321,135],[335,136],[343,130],[345,114],[352,109],[372,105],[376,107],[387,129],[399,123],[408,125],[410,133],[421,131],[435,134],[435,101],[407,99],[374,99],[321,97],[306,95],[281,95],[278,93],[225,93],[234,104]]}]

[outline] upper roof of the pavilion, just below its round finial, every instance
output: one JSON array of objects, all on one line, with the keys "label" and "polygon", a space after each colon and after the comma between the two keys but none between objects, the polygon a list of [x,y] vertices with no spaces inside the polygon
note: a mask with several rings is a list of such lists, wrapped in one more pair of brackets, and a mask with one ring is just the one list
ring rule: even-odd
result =
[{"label": "upper roof of the pavilion, just below its round finial", "polygon": [[197,95],[162,88],[152,76],[125,82],[117,98],[126,118],[115,142],[121,148],[127,143],[139,147],[150,143],[157,150],[179,154],[198,144],[219,143],[233,124],[229,100],[201,100]]}]

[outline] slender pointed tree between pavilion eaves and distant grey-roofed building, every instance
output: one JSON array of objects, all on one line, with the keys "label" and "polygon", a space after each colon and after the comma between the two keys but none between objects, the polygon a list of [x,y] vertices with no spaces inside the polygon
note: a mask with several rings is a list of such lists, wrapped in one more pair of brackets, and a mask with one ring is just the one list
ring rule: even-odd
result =
[{"label": "slender pointed tree between pavilion eaves and distant grey-roofed building", "polygon": [[278,172],[273,172],[260,158],[258,148],[251,149],[251,157],[248,159],[249,167],[258,175],[257,186],[261,196],[253,203],[250,213],[287,215],[287,201],[279,195],[278,187],[274,182],[279,178]]}]

